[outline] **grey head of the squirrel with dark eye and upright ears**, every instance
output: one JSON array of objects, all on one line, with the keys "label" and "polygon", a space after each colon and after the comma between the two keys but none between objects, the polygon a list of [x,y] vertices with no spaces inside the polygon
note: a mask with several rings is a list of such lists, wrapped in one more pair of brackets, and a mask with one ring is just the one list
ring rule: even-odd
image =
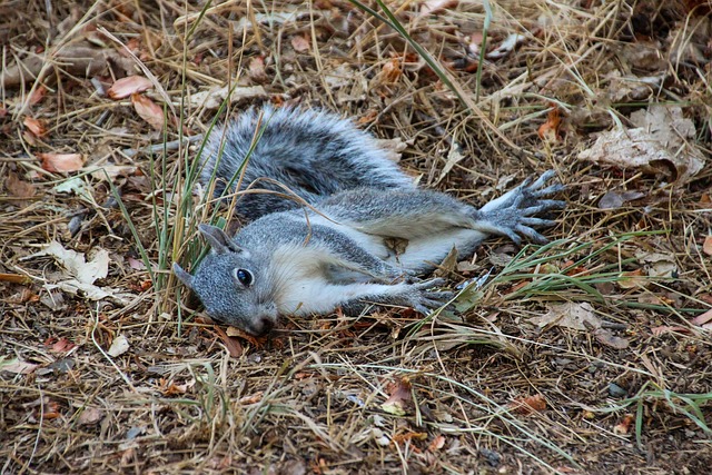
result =
[{"label": "grey head of the squirrel with dark eye and upright ears", "polygon": [[220,228],[200,225],[200,234],[210,245],[195,275],[174,263],[174,274],[198,295],[211,318],[238,327],[251,335],[268,333],[277,323],[277,304],[268,293],[268,283],[250,253],[239,247]]}]

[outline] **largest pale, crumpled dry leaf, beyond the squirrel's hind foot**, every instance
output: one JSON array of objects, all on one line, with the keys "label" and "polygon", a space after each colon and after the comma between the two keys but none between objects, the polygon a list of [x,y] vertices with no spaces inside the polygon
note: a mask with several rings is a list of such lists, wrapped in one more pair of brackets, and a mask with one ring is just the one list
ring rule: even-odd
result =
[{"label": "largest pale, crumpled dry leaf, beyond the squirrel's hind foot", "polygon": [[680,107],[653,105],[631,115],[632,129],[599,135],[578,159],[622,168],[663,174],[672,181],[686,182],[704,167],[704,158],[693,145],[694,122]]}]

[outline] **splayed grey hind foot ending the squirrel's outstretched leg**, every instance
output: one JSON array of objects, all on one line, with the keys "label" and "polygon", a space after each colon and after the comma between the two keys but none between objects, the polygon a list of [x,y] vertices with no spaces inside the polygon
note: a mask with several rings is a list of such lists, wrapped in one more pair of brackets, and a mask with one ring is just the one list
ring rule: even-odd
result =
[{"label": "splayed grey hind foot ending the squirrel's outstretched leg", "polygon": [[504,235],[517,245],[522,243],[522,236],[537,244],[547,243],[535,228],[553,226],[556,221],[535,215],[566,207],[566,201],[545,199],[565,189],[561,184],[546,186],[554,175],[554,170],[548,170],[534,182],[527,178],[518,187],[483,206],[475,215],[477,227]]}]

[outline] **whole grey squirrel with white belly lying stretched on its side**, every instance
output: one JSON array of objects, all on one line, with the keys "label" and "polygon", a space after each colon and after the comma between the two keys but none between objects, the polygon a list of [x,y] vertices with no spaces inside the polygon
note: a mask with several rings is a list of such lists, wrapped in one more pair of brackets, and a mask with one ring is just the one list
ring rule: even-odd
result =
[{"label": "whole grey squirrel with white belly lying stretched on its side", "polygon": [[453,294],[418,276],[453,247],[467,257],[491,235],[545,243],[534,228],[555,221],[536,215],[565,206],[546,198],[563,189],[547,185],[551,170],[481,209],[417,188],[370,135],[324,111],[253,109],[216,127],[202,157],[200,180],[216,180],[217,198],[255,180],[268,192],[240,194],[236,210],[253,221],[234,237],[200,225],[210,253],[195,275],[178,264],[174,273],[210,317],[253,335],[279,315],[358,315],[374,304],[426,314]]}]

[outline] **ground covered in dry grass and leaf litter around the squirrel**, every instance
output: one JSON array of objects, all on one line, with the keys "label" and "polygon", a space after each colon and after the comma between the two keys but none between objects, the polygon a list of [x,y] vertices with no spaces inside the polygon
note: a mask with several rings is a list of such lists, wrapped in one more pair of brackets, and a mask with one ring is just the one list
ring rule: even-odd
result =
[{"label": "ground covered in dry grass and leaf litter around the squirrel", "polygon": [[[0,2],[0,473],[710,473],[710,2],[385,4]],[[202,137],[265,102],[473,205],[553,169],[568,206],[443,263],[484,283],[458,315],[248,337],[169,268]]]}]

